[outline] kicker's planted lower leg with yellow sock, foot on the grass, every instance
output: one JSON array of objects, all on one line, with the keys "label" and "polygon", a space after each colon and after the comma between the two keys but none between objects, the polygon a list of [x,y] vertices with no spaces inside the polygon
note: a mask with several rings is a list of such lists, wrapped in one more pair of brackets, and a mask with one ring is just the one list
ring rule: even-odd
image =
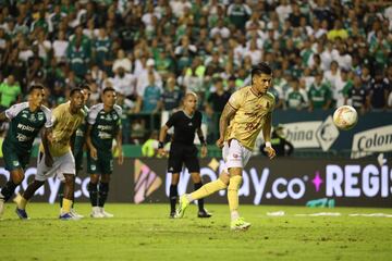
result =
[{"label": "kicker's planted lower leg with yellow sock, foot on the grass", "polygon": [[246,222],[238,214],[238,188],[242,183],[241,175],[233,175],[230,177],[230,184],[228,187],[228,200],[231,214],[230,228],[232,231],[245,231],[249,228],[250,223]]}]

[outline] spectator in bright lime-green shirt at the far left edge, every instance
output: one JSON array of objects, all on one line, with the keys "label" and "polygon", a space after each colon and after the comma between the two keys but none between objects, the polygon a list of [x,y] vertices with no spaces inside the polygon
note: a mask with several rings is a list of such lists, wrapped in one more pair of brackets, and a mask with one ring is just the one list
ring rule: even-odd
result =
[{"label": "spectator in bright lime-green shirt at the far left edge", "polygon": [[19,101],[21,94],[21,86],[15,82],[15,77],[11,74],[0,85],[0,111],[8,109],[12,103]]}]

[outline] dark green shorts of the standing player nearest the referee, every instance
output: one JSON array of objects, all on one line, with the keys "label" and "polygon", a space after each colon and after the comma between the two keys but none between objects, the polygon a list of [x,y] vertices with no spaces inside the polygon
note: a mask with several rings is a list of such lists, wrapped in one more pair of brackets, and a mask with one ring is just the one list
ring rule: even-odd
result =
[{"label": "dark green shorts of the standing player nearest the referee", "polygon": [[113,154],[110,152],[101,153],[98,151],[97,159],[93,159],[87,152],[87,172],[89,174],[112,174]]}]

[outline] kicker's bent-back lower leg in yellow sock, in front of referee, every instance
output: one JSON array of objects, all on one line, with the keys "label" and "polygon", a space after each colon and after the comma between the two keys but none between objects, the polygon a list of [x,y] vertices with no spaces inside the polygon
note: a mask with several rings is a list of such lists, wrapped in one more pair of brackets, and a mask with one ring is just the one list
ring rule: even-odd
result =
[{"label": "kicker's bent-back lower leg in yellow sock, in front of referee", "polygon": [[217,181],[207,183],[193,194],[185,194],[180,198],[180,207],[176,210],[175,217],[181,219],[184,216],[186,208],[194,200],[205,198],[216,191],[226,188],[228,185],[219,177]]}]

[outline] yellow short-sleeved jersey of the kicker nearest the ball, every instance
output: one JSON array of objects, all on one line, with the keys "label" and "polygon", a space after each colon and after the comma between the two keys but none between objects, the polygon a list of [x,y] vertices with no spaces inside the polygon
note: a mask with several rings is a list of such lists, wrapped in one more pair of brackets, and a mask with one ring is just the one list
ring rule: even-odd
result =
[{"label": "yellow short-sleeved jersey of the kicker nearest the ball", "polygon": [[250,86],[246,86],[230,97],[229,104],[236,113],[230,122],[224,140],[236,139],[242,146],[253,150],[258,134],[273,111],[273,95],[267,92],[256,96]]}]

